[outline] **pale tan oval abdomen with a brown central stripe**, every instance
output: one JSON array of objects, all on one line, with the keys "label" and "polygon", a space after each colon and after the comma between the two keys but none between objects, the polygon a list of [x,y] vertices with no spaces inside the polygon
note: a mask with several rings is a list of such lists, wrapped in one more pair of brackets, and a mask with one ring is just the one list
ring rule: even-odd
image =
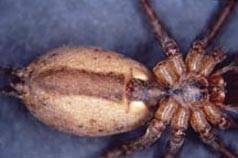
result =
[{"label": "pale tan oval abdomen with a brown central stripe", "polygon": [[[56,49],[21,72],[27,108],[44,123],[77,135],[134,129],[149,118],[145,104],[127,100],[132,78],[149,80],[141,64],[97,48]],[[26,75],[28,74],[28,75]]]}]

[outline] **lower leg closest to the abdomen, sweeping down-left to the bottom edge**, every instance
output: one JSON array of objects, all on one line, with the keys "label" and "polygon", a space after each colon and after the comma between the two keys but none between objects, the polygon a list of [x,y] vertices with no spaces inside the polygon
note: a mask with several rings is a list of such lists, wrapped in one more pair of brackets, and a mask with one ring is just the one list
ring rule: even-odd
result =
[{"label": "lower leg closest to the abdomen, sweeping down-left to the bottom edge", "polygon": [[156,111],[155,118],[150,122],[145,134],[135,140],[132,140],[120,147],[114,148],[101,157],[119,157],[122,155],[128,155],[136,150],[142,150],[152,145],[165,130],[169,124],[172,116],[177,109],[177,103],[172,98],[164,98],[160,102],[160,107]]}]

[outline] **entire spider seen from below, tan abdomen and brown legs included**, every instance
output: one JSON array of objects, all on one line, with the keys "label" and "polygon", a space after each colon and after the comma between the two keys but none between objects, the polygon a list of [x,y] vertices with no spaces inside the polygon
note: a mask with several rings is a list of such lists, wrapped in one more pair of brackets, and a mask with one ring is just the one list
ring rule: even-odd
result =
[{"label": "entire spider seen from below, tan abdomen and brown legs included", "polygon": [[[185,60],[176,41],[166,32],[148,0],[140,0],[166,60],[153,68],[154,78],[136,61],[96,48],[61,48],[28,67],[1,67],[11,84],[1,92],[15,94],[44,123],[77,135],[102,136],[130,131],[146,121],[145,134],[109,150],[102,157],[119,157],[144,149],[160,138],[167,126],[172,134],[165,157],[175,157],[189,124],[201,140],[224,157],[235,158],[216,136],[213,127],[236,128],[226,111],[226,72],[222,49],[206,50],[232,12],[236,0],[227,0],[203,38],[196,40]],[[151,118],[151,110],[156,111]],[[153,108],[151,108],[153,107]]]}]

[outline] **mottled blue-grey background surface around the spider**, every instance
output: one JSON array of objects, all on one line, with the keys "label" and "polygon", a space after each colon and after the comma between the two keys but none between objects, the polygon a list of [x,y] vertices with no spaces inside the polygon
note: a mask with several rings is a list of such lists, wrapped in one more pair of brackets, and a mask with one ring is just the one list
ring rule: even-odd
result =
[{"label": "mottled blue-grey background surface around the spider", "polygon": [[[161,19],[174,34],[183,53],[205,29],[224,0],[152,0]],[[0,0],[0,65],[23,67],[46,51],[64,45],[93,45],[110,49],[151,68],[163,59],[137,0]],[[214,45],[238,52],[238,6]],[[0,83],[6,78],[0,75]],[[102,138],[60,133],[33,118],[20,100],[0,96],[1,158],[92,158],[110,144],[138,132]],[[141,133],[141,131],[139,131]],[[168,132],[167,132],[168,133]],[[238,154],[238,133],[220,132]],[[168,134],[133,158],[162,154]],[[215,158],[188,131],[183,158]]]}]

